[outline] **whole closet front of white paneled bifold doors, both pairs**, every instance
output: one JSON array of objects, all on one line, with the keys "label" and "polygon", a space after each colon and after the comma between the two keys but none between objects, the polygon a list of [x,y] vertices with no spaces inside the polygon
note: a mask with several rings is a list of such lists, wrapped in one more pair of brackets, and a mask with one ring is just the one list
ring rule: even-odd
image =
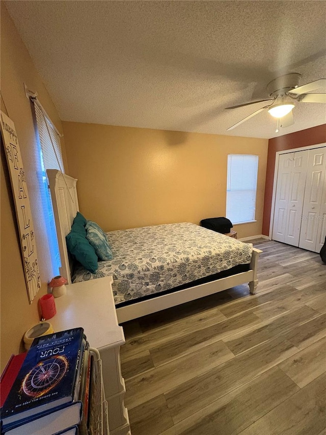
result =
[{"label": "whole closet front of white paneled bifold doors, both pairs", "polygon": [[279,155],[272,239],[319,252],[326,236],[326,146]]}]

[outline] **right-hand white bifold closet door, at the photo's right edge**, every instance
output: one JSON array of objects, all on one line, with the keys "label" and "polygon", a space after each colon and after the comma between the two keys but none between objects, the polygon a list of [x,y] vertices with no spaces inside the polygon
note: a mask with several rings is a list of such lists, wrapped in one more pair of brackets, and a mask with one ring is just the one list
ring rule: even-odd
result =
[{"label": "right-hand white bifold closet door, at the photo's right edge", "polygon": [[299,247],[319,252],[326,236],[326,147],[311,149]]}]

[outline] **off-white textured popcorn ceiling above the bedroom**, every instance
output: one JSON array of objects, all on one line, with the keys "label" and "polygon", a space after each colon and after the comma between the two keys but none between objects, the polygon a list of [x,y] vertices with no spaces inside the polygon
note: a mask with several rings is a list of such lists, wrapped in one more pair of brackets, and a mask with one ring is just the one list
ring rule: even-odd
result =
[{"label": "off-white textured popcorn ceiling above the bedroom", "polygon": [[[261,112],[270,80],[326,76],[324,1],[8,1],[15,25],[66,121],[276,137]],[[28,85],[28,84],[27,84]],[[326,122],[299,103],[294,125]]]}]

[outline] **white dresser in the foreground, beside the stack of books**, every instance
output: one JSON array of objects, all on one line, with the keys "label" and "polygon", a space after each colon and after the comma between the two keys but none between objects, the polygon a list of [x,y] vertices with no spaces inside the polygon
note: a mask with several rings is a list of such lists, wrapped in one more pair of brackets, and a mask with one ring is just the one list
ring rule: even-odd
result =
[{"label": "white dresser in the foreground, beside the stack of books", "polygon": [[67,294],[55,299],[57,314],[49,321],[55,331],[84,328],[88,342],[101,355],[110,435],[130,435],[120,366],[120,346],[125,340],[111,285],[112,277],[105,277],[66,286]]}]

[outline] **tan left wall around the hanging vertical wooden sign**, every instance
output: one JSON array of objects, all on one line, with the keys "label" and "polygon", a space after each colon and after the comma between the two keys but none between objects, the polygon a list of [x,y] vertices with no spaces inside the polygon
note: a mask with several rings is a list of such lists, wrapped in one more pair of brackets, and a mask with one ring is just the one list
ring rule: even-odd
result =
[{"label": "tan left wall around the hanging vertical wooden sign", "polygon": [[[10,187],[6,157],[1,145],[1,370],[12,353],[17,353],[24,331],[39,321],[37,301],[47,291],[52,267],[45,238],[37,164],[39,156],[31,105],[24,94],[23,82],[37,90],[39,99],[62,131],[61,121],[53,103],[23,45],[16,28],[1,2],[1,93],[9,117],[15,123],[22,161],[29,190],[35,241],[38,253],[42,287],[30,305],[25,287],[20,255],[18,227]],[[6,113],[3,102],[1,110]],[[65,151],[63,149],[65,156]]]}]

